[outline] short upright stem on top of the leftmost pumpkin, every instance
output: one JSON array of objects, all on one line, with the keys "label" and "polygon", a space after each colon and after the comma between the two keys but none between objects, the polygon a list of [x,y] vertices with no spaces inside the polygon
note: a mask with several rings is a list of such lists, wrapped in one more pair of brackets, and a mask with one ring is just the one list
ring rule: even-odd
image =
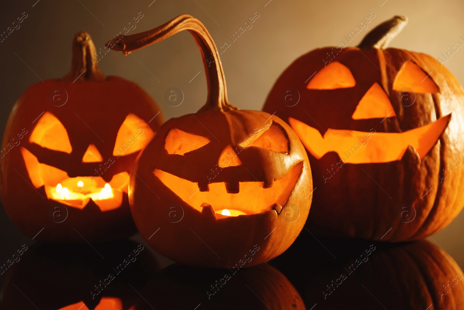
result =
[{"label": "short upright stem on top of the leftmost pumpkin", "polygon": [[98,69],[97,50],[90,34],[84,31],[74,35],[72,40],[71,71],[64,76],[66,81],[103,81],[105,75]]}]

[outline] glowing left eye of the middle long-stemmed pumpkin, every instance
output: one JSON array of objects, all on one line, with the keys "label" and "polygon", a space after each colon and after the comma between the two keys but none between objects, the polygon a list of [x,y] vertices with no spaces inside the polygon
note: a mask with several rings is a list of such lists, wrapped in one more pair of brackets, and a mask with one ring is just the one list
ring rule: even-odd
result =
[{"label": "glowing left eye of the middle long-stemmed pumpkin", "polygon": [[166,136],[164,148],[168,154],[184,155],[207,145],[209,142],[210,140],[205,137],[173,128]]}]

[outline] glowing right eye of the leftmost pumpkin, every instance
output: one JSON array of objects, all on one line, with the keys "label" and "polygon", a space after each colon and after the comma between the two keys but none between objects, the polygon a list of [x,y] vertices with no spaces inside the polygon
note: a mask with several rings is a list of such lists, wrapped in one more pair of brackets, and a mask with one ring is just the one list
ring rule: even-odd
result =
[{"label": "glowing right eye of the leftmost pumpkin", "polygon": [[141,118],[129,113],[117,132],[114,156],[129,155],[142,150],[155,132]]}]

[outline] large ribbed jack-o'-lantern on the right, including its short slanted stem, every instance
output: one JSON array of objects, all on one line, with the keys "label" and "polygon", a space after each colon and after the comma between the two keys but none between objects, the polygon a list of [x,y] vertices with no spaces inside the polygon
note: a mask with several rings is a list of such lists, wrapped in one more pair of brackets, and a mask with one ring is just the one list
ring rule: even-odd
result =
[{"label": "large ribbed jack-o'-lantern on the right, including its short slanted stem", "polygon": [[308,151],[310,230],[413,240],[464,205],[464,92],[432,56],[386,48],[406,22],[387,20],[358,47],[303,55],[266,100]]}]

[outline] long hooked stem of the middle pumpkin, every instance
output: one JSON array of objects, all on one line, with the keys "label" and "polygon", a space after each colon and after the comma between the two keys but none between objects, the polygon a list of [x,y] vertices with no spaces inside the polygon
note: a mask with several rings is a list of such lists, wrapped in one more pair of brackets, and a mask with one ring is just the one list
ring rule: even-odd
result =
[{"label": "long hooked stem of the middle pumpkin", "polygon": [[142,33],[118,36],[117,39],[108,41],[106,46],[113,51],[122,51],[124,55],[128,55],[145,46],[169,38],[182,30],[188,30],[193,35],[200,48],[205,66],[208,97],[206,104],[198,110],[198,113],[237,110],[237,107],[232,106],[227,100],[226,79],[216,45],[200,20],[190,15],[179,15],[161,26]]}]

